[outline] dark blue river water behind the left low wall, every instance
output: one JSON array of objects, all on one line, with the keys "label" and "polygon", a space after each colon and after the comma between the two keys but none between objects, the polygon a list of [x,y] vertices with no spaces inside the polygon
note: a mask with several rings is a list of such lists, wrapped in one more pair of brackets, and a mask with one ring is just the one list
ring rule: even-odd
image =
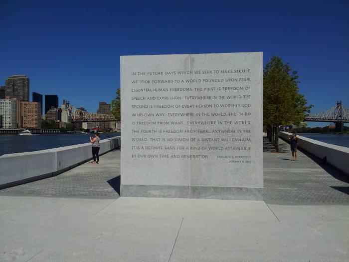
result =
[{"label": "dark blue river water behind the left low wall", "polygon": [[[119,135],[100,134],[100,137],[106,139]],[[0,135],[0,155],[88,143],[89,137],[90,134]]]}]

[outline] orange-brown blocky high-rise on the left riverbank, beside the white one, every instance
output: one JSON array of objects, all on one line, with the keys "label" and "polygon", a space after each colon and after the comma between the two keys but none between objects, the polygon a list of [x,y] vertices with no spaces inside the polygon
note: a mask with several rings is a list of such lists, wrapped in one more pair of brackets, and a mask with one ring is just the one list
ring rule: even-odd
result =
[{"label": "orange-brown blocky high-rise on the left riverbank, beside the white one", "polygon": [[19,102],[21,127],[41,128],[41,105],[39,102]]}]

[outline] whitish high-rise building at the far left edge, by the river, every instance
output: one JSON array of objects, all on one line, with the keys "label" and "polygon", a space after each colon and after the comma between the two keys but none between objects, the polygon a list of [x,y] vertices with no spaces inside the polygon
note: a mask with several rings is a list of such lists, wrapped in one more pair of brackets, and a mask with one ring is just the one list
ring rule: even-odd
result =
[{"label": "whitish high-rise building at the far left edge, by the river", "polygon": [[2,116],[1,128],[17,127],[17,101],[0,99],[0,115]]}]

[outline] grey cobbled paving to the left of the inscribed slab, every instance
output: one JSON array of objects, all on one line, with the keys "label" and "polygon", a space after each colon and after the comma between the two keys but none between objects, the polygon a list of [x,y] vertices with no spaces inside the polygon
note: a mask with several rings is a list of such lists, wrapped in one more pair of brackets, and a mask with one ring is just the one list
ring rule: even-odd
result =
[{"label": "grey cobbled paving to the left of the inscribed slab", "polygon": [[0,196],[70,196],[118,198],[120,149],[100,157],[100,164],[86,162],[58,176],[2,189]]}]

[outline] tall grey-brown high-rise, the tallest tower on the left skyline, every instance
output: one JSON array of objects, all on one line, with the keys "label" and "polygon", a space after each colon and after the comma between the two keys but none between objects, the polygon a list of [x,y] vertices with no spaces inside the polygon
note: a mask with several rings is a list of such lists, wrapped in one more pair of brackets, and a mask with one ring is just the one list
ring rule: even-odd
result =
[{"label": "tall grey-brown high-rise, the tallest tower on the left skyline", "polygon": [[26,75],[11,75],[5,79],[5,97],[29,101],[29,78]]}]

